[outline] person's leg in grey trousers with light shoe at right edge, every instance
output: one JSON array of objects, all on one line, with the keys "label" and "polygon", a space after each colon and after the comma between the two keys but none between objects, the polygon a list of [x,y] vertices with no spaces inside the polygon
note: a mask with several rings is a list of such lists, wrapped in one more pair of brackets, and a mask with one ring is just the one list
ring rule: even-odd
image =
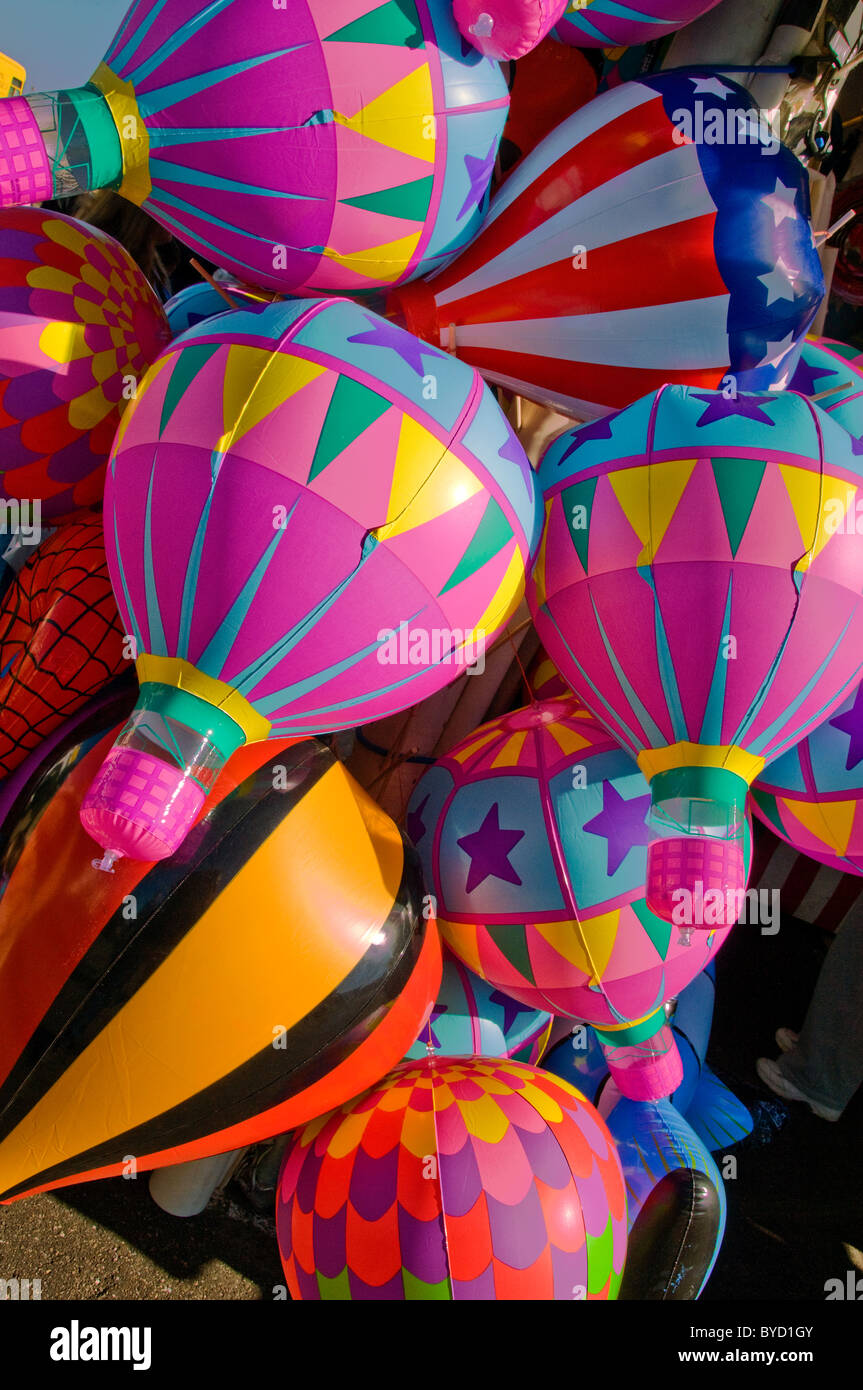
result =
[{"label": "person's leg in grey trousers with light shoe at right edge", "polygon": [[844,1111],[863,1083],[863,913],[832,941],[796,1047],[775,1062],[807,1099]]}]

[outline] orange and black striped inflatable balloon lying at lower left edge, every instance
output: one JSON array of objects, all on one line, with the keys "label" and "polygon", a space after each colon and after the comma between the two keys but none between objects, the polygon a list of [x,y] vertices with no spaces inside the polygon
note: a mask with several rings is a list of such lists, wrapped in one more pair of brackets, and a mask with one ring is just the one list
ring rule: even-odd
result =
[{"label": "orange and black striped inflatable balloon lying at lower left edge", "polygon": [[441,984],[416,855],[322,744],[240,749],[170,865],[107,874],[78,812],[111,737],[72,731],[3,826],[1,1201],[303,1125]]}]

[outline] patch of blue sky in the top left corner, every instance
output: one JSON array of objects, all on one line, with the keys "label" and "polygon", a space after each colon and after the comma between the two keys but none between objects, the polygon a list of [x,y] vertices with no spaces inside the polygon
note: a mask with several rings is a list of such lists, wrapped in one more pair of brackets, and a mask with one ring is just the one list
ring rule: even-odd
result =
[{"label": "patch of blue sky in the top left corner", "polygon": [[104,57],[129,0],[18,0],[0,17],[0,50],[24,63],[28,92],[81,86]]}]

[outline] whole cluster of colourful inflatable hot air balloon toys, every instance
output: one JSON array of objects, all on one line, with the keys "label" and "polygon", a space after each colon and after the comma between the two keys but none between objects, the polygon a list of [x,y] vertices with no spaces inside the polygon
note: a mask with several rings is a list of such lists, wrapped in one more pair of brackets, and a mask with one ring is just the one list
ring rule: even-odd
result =
[{"label": "whole cluster of colourful inflatable hot air balloon toys", "polygon": [[281,1141],[292,1297],[700,1293],[750,810],[863,873],[809,170],[580,51],[709,7],[132,0],[0,99],[0,1202]]}]

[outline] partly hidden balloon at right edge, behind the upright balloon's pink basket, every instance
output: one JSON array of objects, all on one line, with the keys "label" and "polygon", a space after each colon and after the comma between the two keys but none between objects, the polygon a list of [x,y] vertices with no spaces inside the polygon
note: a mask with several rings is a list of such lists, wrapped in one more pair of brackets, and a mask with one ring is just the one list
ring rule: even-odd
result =
[{"label": "partly hidden balloon at right edge, behind the upright balloon's pink basket", "polygon": [[863,874],[863,687],[752,785],[752,809],[810,859]]}]

